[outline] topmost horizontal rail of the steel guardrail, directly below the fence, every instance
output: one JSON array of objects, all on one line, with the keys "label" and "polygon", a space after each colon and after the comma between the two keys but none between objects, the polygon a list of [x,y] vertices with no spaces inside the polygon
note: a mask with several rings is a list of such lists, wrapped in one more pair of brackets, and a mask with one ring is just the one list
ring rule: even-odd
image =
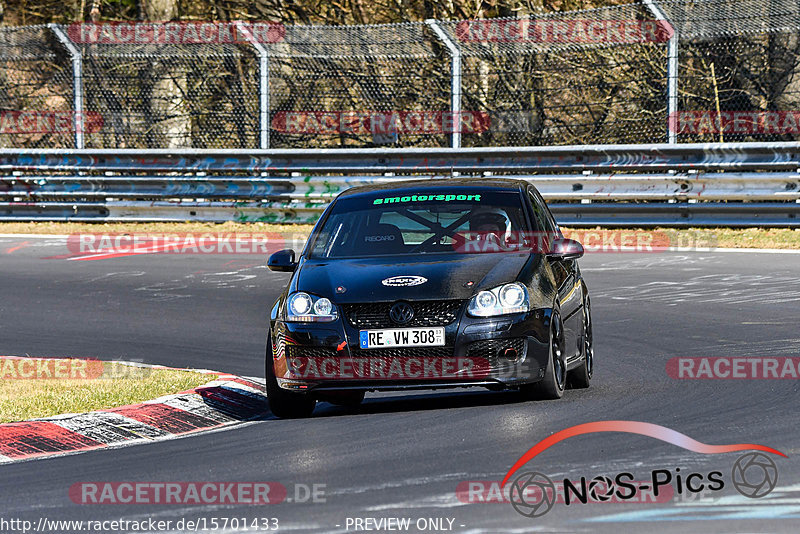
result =
[{"label": "topmost horizontal rail of the steel guardrail, directly below the fence", "polygon": [[800,143],[487,148],[0,149],[0,171],[517,172],[800,167]]}]

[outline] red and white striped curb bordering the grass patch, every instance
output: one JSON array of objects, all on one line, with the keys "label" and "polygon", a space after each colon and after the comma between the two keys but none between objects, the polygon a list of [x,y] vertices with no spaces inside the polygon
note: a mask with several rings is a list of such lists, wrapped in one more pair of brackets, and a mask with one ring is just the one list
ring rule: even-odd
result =
[{"label": "red and white striped curb bordering the grass patch", "polygon": [[173,439],[241,425],[267,413],[263,379],[206,369],[115,363],[214,374],[218,378],[139,404],[0,424],[0,464]]}]

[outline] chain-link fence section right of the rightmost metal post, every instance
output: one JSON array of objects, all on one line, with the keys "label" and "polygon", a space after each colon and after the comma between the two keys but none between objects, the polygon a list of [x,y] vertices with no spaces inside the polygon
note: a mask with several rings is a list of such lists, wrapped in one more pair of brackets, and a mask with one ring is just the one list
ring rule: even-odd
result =
[{"label": "chain-link fence section right of the rightmost metal post", "polygon": [[696,112],[675,125],[681,142],[800,139],[800,3],[659,4],[679,29],[679,108]]}]

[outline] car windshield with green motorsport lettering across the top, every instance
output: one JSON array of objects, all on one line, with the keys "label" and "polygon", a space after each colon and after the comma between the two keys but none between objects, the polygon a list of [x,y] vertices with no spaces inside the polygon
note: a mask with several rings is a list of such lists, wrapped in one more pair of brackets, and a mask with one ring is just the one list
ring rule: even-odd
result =
[{"label": "car windshield with green motorsport lettering across the top", "polygon": [[508,252],[521,248],[527,224],[514,191],[380,191],[339,199],[312,238],[310,256]]}]

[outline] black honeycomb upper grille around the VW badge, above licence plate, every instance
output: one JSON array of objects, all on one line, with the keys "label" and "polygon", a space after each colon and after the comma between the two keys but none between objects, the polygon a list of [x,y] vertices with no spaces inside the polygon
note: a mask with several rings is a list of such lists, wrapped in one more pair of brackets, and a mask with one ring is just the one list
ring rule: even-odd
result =
[{"label": "black honeycomb upper grille around the VW badge, above licence plate", "polygon": [[414,317],[405,324],[397,324],[389,318],[394,302],[369,304],[344,304],[342,309],[347,320],[356,328],[398,328],[414,326],[447,326],[458,317],[463,300],[410,301]]}]

